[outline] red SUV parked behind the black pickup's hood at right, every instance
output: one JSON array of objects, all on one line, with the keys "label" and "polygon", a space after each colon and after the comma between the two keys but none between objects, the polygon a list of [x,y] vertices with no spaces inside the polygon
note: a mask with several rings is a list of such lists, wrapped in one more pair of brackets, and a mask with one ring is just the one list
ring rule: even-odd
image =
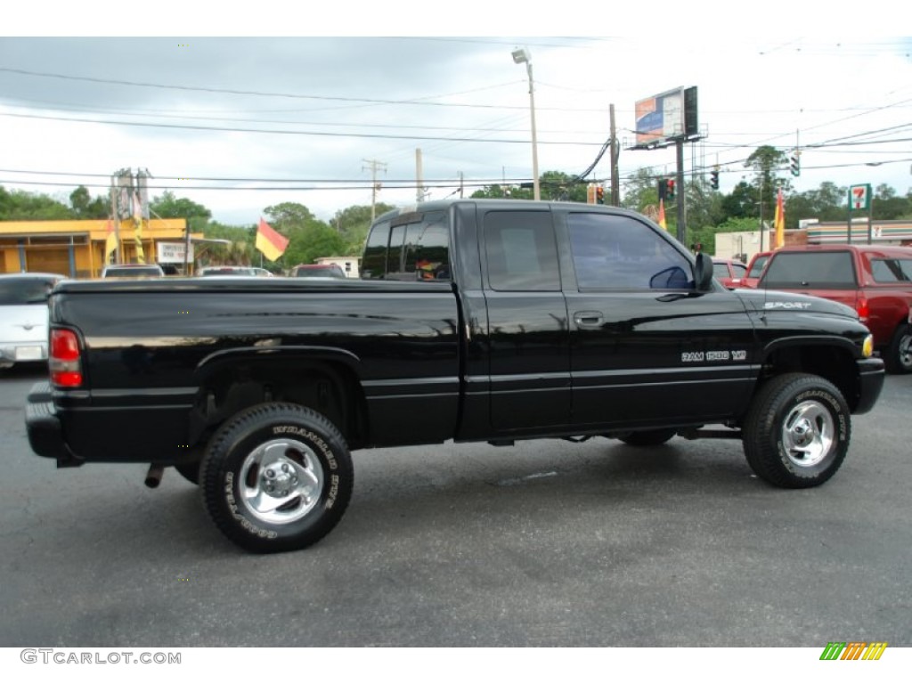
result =
[{"label": "red SUV parked behind the black pickup's hood at right", "polygon": [[851,306],[892,373],[912,373],[912,247],[804,244],[770,255],[758,288]]}]

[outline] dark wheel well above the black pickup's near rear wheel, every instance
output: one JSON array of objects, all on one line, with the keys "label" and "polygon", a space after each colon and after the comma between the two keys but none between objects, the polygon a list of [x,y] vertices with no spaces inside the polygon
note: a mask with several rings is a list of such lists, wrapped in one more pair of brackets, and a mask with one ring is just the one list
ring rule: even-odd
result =
[{"label": "dark wheel well above the black pickup's near rear wheel", "polygon": [[204,444],[240,410],[286,401],[326,416],[350,449],[367,441],[367,402],[355,373],[344,364],[314,360],[234,360],[204,379],[196,395],[191,440]]}]

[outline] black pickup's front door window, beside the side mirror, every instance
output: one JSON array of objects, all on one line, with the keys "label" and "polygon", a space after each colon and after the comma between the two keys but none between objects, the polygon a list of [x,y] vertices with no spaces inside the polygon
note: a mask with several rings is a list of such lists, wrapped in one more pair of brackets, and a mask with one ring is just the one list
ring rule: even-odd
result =
[{"label": "black pickup's front door window, beside the side mirror", "polygon": [[584,212],[571,213],[567,223],[576,284],[581,290],[692,286],[687,258],[646,223],[628,216]]}]

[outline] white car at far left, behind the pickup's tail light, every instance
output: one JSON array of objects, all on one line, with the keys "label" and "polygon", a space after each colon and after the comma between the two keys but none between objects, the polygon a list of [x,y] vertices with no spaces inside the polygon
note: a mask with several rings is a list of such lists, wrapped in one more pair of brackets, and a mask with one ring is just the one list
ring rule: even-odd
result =
[{"label": "white car at far left, behind the pickup's tail light", "polygon": [[47,295],[65,275],[0,275],[0,368],[47,361]]}]

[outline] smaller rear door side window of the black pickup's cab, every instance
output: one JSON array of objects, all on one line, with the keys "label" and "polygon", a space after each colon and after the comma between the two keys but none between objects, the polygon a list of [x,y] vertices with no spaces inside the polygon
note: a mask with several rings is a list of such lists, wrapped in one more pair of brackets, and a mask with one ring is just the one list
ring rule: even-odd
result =
[{"label": "smaller rear door side window of the black pickup's cab", "polygon": [[551,212],[488,212],[484,251],[493,290],[559,292]]}]

